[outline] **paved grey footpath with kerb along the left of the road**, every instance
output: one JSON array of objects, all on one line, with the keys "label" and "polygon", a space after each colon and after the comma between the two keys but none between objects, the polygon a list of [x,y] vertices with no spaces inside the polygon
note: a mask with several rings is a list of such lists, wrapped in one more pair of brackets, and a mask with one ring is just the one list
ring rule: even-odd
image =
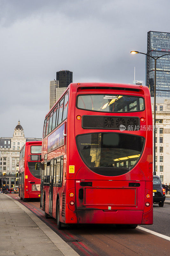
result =
[{"label": "paved grey footpath with kerb along the left of the road", "polygon": [[6,255],[78,256],[24,205],[0,194],[0,256]]}]

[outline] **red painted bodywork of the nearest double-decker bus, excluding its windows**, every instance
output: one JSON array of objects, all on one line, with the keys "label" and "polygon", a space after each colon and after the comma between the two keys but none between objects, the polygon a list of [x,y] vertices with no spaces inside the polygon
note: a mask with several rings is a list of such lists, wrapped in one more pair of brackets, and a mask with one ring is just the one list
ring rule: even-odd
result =
[{"label": "red painted bodywork of the nearest double-decker bus, excluding its windows", "polygon": [[[52,116],[51,113],[53,109],[60,108],[58,104],[61,104],[60,102],[66,93],[69,94],[67,118],[45,136],[45,133],[47,134],[46,122],[49,122],[48,117]],[[126,95],[129,97],[141,97],[145,101],[144,109],[142,111],[135,112],[110,113],[78,108],[77,96],[89,94],[102,94],[104,96],[114,94]],[[107,116],[108,118],[138,118],[140,129],[134,131],[128,131],[127,129],[120,131],[117,129],[96,128],[96,122],[98,122],[98,119],[94,119],[96,120],[95,124],[93,124],[94,127],[96,125],[95,128],[88,128],[83,126],[85,116],[93,119],[96,117],[99,119],[105,118]],[[141,127],[145,127],[145,129],[141,129]],[[57,135],[59,133],[61,135],[62,131],[57,132],[59,128],[64,131],[64,135],[62,135],[62,139],[64,139],[64,141],[61,144],[56,144],[55,147],[51,147],[49,145],[52,143],[51,141],[57,140]],[[135,138],[142,137],[142,140],[145,142],[141,150],[141,154],[139,154],[140,157],[138,162],[129,170],[129,166],[126,166],[125,171],[122,169],[120,172],[119,169],[121,168],[117,168],[117,171],[113,170],[114,175],[109,174],[111,173],[110,171],[108,171],[107,175],[104,175],[105,168],[95,169],[96,167],[89,167],[82,159],[81,151],[78,150],[77,141],[78,138],[80,138],[78,137],[79,135],[87,134],[87,136],[89,136],[88,134],[95,133],[99,134],[95,136],[105,136],[106,139],[107,136],[117,136],[118,138],[118,136],[121,137],[122,134],[124,134],[124,136],[133,135],[136,136]],[[104,133],[107,134],[103,135]],[[150,92],[146,86],[108,83],[70,84],[58,102],[46,115],[43,134],[40,207],[46,212],[46,214],[49,214],[54,218],[57,218],[58,216],[59,221],[66,224],[152,224],[152,110]],[[84,138],[85,141],[86,137]],[[129,141],[129,144],[131,145],[134,141],[135,140]],[[86,143],[83,142],[82,144],[85,145]],[[93,145],[93,143],[91,143],[91,145]],[[133,145],[131,145],[131,147],[133,148]],[[134,148],[135,147],[136,144],[134,143]],[[84,148],[89,150],[86,145]],[[84,148],[82,148],[82,151]],[[107,150],[108,148],[106,148],[106,151]],[[93,150],[93,153],[94,152],[95,150]],[[107,156],[107,152],[104,152],[103,154]],[[84,153],[84,156],[85,155],[86,153]],[[61,156],[62,159],[60,158]],[[92,157],[93,156],[90,156],[90,158]],[[135,156],[128,157],[130,158]],[[60,184],[53,182],[54,179],[56,180],[56,177],[54,176],[57,175],[55,174],[55,172],[57,173],[55,170],[56,163],[58,161],[56,159],[58,158],[60,158],[59,163],[61,163],[61,160],[63,162],[63,168],[60,166],[60,171],[62,172],[62,181],[60,181]],[[88,161],[90,164],[92,163],[92,160]],[[119,161],[119,159],[114,159],[114,161]],[[124,164],[120,162],[121,161],[119,161],[117,166]],[[49,170],[46,171],[48,166]],[[95,170],[97,170],[98,173],[96,173]],[[47,176],[49,182],[46,182]],[[149,198],[146,197],[148,194],[149,196],[147,197]],[[58,200],[60,207],[57,210]],[[57,211],[60,212],[58,213]]]}]

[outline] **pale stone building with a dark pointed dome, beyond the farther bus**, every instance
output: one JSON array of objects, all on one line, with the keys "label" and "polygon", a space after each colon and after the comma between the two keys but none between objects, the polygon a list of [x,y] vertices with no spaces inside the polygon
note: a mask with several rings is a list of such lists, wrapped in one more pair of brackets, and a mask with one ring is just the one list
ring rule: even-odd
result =
[{"label": "pale stone building with a dark pointed dome, beyond the farther bus", "polygon": [[37,138],[25,138],[24,130],[18,121],[14,129],[13,137],[0,138],[0,179],[4,185],[18,184],[16,173],[19,170],[19,153],[26,141],[42,140]]}]

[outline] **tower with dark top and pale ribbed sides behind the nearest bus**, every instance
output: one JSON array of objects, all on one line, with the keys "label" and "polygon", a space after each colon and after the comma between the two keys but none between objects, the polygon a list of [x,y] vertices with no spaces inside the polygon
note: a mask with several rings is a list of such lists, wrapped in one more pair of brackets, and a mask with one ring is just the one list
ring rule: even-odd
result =
[{"label": "tower with dark top and pale ribbed sides behind the nearest bus", "polygon": [[72,71],[60,70],[56,73],[56,80],[50,81],[50,109],[71,83],[73,83]]}]

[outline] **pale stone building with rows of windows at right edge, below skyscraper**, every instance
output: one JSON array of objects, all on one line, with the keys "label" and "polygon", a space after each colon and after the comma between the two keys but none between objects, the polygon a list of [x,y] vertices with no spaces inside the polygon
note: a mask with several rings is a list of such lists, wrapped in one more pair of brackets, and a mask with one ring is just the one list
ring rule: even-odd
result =
[{"label": "pale stone building with rows of windows at right edge, below skyscraper", "polygon": [[[154,98],[152,117],[154,118]],[[154,122],[154,120],[153,120]],[[162,182],[170,183],[170,98],[156,99],[156,175]]]}]

